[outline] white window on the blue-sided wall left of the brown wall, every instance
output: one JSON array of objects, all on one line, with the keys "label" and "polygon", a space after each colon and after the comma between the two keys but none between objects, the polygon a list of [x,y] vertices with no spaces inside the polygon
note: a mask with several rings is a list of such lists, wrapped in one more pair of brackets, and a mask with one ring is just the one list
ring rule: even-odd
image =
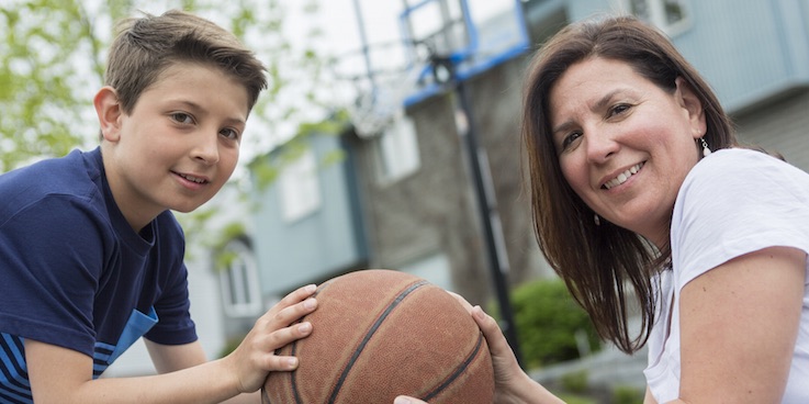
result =
[{"label": "white window on the blue-sided wall left of the brown wall", "polygon": [[294,222],[321,207],[317,165],[312,150],[284,167],[279,178],[281,211],[286,222]]}]

